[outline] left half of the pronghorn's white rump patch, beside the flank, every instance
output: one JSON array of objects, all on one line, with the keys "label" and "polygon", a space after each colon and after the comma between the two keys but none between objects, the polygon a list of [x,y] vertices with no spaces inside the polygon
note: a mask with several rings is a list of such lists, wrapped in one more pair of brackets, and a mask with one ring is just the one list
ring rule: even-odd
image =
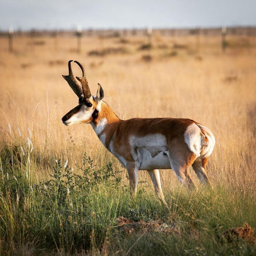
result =
[{"label": "left half of the pronghorn's white rump patch, beside the flank", "polygon": [[202,150],[202,137],[200,135],[201,129],[196,124],[190,124],[184,133],[185,142],[190,151],[200,156]]}]

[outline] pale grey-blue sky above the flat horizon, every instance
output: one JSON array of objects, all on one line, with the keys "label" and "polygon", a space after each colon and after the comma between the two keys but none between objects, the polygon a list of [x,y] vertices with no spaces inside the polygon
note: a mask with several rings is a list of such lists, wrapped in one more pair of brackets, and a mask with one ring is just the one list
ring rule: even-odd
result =
[{"label": "pale grey-blue sky above the flat horizon", "polygon": [[256,25],[256,0],[0,0],[0,29]]}]

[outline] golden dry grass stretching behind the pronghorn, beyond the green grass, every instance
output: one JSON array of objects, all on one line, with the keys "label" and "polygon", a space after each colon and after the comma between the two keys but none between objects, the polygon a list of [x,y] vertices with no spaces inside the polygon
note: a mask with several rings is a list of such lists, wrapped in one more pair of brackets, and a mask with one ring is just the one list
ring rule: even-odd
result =
[{"label": "golden dry grass stretching behind the pronghorn, beyond the green grass", "polygon": [[[86,151],[95,164],[112,161],[121,169],[90,125],[67,127],[61,122],[78,103],[61,75],[68,73],[68,60],[79,60],[86,68],[91,91],[95,94],[100,82],[105,101],[120,118],[184,117],[209,127],[216,137],[208,164],[210,180],[250,188],[256,198],[256,40],[251,38],[249,50],[230,46],[223,54],[220,37],[202,37],[196,50],[193,36],[162,36],[161,44],[179,51],[175,58],[162,58],[166,49],[154,47],[159,44],[157,38],[153,37],[152,49],[144,51],[151,61],[142,60],[142,52],[137,51],[138,42],[147,43],[146,37],[126,38],[127,54],[106,54],[102,59],[87,53],[116,48],[116,38],[83,37],[81,53],[69,51],[76,49],[75,37],[59,37],[57,44],[53,37],[14,37],[14,53],[7,51],[7,38],[0,38],[1,140],[11,140],[8,124],[16,136],[18,127],[24,137],[30,128],[36,154],[49,165],[55,158],[68,158],[74,166],[81,163]],[[188,50],[196,54],[188,54]],[[73,66],[80,76],[79,68]],[[52,172],[49,165],[38,166],[37,179],[48,177]],[[144,171],[139,179],[149,180]],[[161,171],[161,179],[164,191],[178,185],[171,171]]]}]

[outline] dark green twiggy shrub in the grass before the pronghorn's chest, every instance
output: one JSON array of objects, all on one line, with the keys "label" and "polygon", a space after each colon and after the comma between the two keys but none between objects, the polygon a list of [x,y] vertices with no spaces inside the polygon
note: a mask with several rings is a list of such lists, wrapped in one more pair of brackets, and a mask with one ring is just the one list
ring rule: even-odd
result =
[{"label": "dark green twiggy shrub in the grass before the pronghorn's chest", "polygon": [[[82,175],[74,173],[74,169],[70,168],[67,162],[62,166],[60,159],[55,160],[53,174],[50,174],[52,179],[41,182],[38,186],[43,194],[57,195],[60,204],[72,191],[81,192],[79,197],[86,199],[90,193],[99,191],[102,187],[107,187],[109,190],[127,188],[122,184],[121,176],[118,175],[121,171],[115,172],[111,162],[98,168],[93,164],[91,157],[84,153],[83,165],[77,165]],[[41,189],[43,187],[47,189]]]}]

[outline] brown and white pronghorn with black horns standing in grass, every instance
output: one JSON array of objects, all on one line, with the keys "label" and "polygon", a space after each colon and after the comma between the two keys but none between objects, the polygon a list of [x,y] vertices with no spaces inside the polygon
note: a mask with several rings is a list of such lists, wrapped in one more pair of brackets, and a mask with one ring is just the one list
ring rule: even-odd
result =
[{"label": "brown and white pronghorn with black horns standing in grass", "polygon": [[119,119],[102,99],[104,89],[98,84],[96,96],[92,96],[84,67],[83,76],[73,75],[68,61],[68,76],[63,76],[79,98],[79,105],[62,117],[65,125],[88,124],[100,141],[119,162],[127,168],[132,196],[136,195],[139,170],[147,170],[156,194],[164,203],[158,169],[172,169],[181,183],[185,179],[194,186],[188,168],[192,165],[202,183],[210,184],[206,164],[212,153],[215,139],[202,124],[183,118],[132,118]]}]

